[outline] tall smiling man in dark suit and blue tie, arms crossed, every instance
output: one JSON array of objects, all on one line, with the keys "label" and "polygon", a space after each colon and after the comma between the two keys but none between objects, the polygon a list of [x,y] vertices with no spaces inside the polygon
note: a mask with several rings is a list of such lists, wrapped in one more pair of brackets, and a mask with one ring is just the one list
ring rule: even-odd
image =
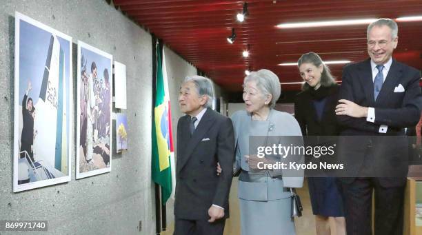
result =
[{"label": "tall smiling man in dark suit and blue tie, arms crossed", "polygon": [[372,234],[372,190],[374,233],[403,232],[408,172],[404,128],[419,121],[421,90],[419,71],[392,59],[397,32],[391,19],[371,23],[367,32],[370,59],[343,70],[336,114],[345,125],[341,135],[352,141],[340,141],[339,152],[350,160],[346,167],[358,173],[342,180],[348,235]]}]

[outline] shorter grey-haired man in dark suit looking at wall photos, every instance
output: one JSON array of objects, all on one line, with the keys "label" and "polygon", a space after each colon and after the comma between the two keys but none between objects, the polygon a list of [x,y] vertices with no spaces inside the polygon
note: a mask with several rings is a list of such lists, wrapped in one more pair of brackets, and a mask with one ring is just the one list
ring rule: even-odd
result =
[{"label": "shorter grey-haired man in dark suit looking at wall photos", "polygon": [[180,88],[186,115],[177,123],[174,235],[223,234],[229,216],[234,132],[232,121],[211,109],[212,96],[212,82],[203,76],[187,77]]}]

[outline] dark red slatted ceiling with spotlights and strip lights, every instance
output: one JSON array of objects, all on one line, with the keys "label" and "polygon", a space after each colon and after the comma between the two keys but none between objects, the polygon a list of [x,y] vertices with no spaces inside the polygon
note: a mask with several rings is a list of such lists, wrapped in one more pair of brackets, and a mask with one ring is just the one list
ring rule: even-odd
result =
[{"label": "dark red slatted ceiling with spotlights and strip lights", "polygon": [[[324,61],[368,58],[363,25],[280,29],[280,23],[408,17],[422,15],[422,1],[262,1],[250,0],[243,23],[236,14],[245,1],[114,0],[114,6],[143,25],[174,52],[205,72],[228,91],[241,90],[245,70],[267,68],[275,72],[283,90],[299,90],[296,62],[305,52],[316,52]],[[394,58],[422,69],[422,21],[398,22],[399,45]],[[227,37],[235,29],[233,44]],[[242,52],[250,45],[250,55]],[[344,64],[329,65],[341,79]]]}]

